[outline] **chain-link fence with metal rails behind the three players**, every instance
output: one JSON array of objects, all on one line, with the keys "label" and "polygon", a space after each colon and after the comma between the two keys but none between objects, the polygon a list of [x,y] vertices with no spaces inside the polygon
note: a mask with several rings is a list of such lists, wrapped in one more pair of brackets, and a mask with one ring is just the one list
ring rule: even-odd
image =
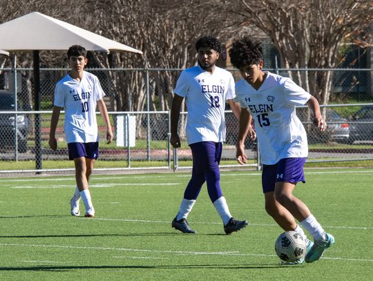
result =
[{"label": "chain-link fence with metal rails behind the three players", "polygon": [[[106,101],[115,136],[112,144],[105,143],[104,122],[97,114],[100,136],[99,161],[95,165],[97,171],[172,171],[191,167],[191,151],[184,139],[186,113],[181,115],[179,124],[182,147],[175,151],[169,144],[170,113],[166,104],[172,97],[172,89],[181,70],[88,71],[99,77],[108,94]],[[74,171],[73,162],[68,161],[67,144],[64,140],[64,113],[60,116],[57,128],[58,149],[52,151],[48,146],[54,88],[66,72],[66,69],[41,70],[41,111],[33,111],[32,70],[0,69],[0,89],[3,89],[0,90],[0,173]],[[237,70],[232,72],[236,79],[240,79]],[[289,73],[288,70],[276,72],[284,76]],[[327,131],[319,133],[314,129],[306,107],[297,109],[308,133],[308,162],[372,160],[373,70],[333,70],[333,73],[333,104],[322,106],[329,124]],[[140,77],[138,88],[114,85],[117,83],[115,77],[130,79],[134,75]],[[126,88],[126,93],[140,92],[142,96],[121,96],[121,88]],[[347,104],[345,101],[348,100],[353,100],[354,104]],[[133,110],[139,108],[139,104],[140,110]],[[122,108],[131,110],[123,111]],[[235,147],[238,120],[229,110],[226,112],[226,122],[227,141],[224,144],[221,166],[238,167],[240,165],[236,162]],[[258,168],[260,155],[256,142],[247,140],[245,146],[251,159],[248,166]]]}]

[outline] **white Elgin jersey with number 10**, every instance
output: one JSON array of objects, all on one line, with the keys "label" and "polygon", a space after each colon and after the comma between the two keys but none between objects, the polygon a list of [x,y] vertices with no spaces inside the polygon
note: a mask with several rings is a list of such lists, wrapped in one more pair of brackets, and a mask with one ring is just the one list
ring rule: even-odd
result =
[{"label": "white Elgin jersey with number 10", "polygon": [[66,75],[57,83],[54,105],[65,110],[66,142],[98,142],[96,106],[104,96],[99,79],[86,71],[80,82]]}]

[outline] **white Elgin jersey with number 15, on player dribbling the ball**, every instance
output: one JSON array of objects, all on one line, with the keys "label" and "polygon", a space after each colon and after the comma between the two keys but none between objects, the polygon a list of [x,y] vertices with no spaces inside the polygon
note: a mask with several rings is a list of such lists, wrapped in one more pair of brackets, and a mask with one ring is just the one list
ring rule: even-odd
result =
[{"label": "white Elgin jersey with number 15, on player dribbling the ball", "polygon": [[263,164],[276,164],[287,157],[307,157],[307,135],[296,116],[311,95],[289,78],[266,72],[258,90],[245,79],[236,84],[236,99],[255,120],[260,158]]}]

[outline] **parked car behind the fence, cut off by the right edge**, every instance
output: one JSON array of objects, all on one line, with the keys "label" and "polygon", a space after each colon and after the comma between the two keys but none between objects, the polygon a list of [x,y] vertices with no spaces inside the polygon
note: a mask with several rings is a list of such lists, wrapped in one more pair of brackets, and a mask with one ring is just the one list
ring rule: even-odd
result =
[{"label": "parked car behind the fence, cut off by the right edge", "polygon": [[[363,123],[367,122],[367,123]],[[363,106],[352,115],[350,122],[350,142],[373,141],[373,106]]]}]

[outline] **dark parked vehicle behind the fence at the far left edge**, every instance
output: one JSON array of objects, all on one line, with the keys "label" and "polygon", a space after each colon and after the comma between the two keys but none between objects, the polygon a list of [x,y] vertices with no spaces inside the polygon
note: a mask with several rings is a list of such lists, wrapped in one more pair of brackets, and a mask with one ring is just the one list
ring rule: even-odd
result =
[{"label": "dark parked vehicle behind the fence at the far left edge", "polygon": [[[22,110],[21,104],[18,102],[18,110]],[[15,111],[15,96],[6,91],[0,90],[0,111]],[[1,147],[15,147],[15,114],[0,114],[0,144]],[[28,116],[24,114],[17,115],[17,140],[18,151],[24,153],[27,151],[28,139]]]}]

